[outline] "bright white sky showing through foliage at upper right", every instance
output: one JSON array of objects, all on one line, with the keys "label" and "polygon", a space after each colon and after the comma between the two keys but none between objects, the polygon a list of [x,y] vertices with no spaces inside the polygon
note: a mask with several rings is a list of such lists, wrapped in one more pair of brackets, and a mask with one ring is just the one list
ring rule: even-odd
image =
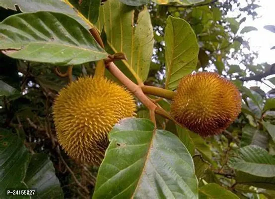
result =
[{"label": "bright white sky showing through foliage at upper right", "polygon": [[[247,5],[246,0],[240,0],[240,2],[240,7],[244,7]],[[273,64],[275,63],[275,49],[271,50],[271,48],[275,46],[275,33],[266,30],[264,26],[275,25],[275,0],[256,0],[255,3],[261,5],[261,7],[256,8],[258,18],[253,20],[252,17],[247,17],[246,21],[240,25],[239,32],[245,26],[256,27],[258,29],[257,31],[244,33],[244,37],[249,41],[249,45],[251,48],[250,50],[259,53],[259,57],[255,60],[255,64],[261,64],[264,62]],[[236,8],[236,10],[239,9],[237,7],[234,8]],[[230,17],[235,17],[238,14],[238,11],[234,11],[230,13]],[[265,81],[265,83],[274,88],[274,85],[271,84],[269,81]],[[255,85],[255,81],[249,81],[245,84],[245,86],[247,87]],[[265,92],[271,90],[271,88],[266,86],[265,84],[258,84],[257,86],[260,86],[260,88]]]}]

